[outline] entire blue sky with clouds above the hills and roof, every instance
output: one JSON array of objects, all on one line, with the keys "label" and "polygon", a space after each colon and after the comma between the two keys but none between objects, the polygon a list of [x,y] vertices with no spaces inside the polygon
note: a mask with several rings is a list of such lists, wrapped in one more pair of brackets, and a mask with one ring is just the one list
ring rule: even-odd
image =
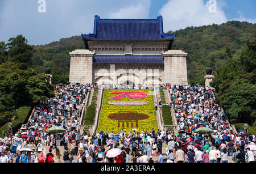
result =
[{"label": "entire blue sky with clouds above the hills and roof", "polygon": [[[155,19],[163,15],[164,32],[228,20],[256,23],[255,0],[45,1],[46,12],[40,13],[38,0],[0,0],[0,41],[22,34],[30,44],[41,45],[92,33],[94,15],[105,19]],[[210,12],[210,7],[216,11]]]}]

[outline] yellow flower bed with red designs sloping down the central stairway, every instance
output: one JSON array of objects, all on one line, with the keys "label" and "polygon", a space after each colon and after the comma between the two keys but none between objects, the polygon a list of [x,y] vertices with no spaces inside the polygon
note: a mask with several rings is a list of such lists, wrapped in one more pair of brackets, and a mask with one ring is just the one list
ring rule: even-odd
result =
[{"label": "yellow flower bed with red designs sloping down the central stairway", "polygon": [[[147,96],[143,99],[130,99],[126,96],[119,100],[110,99],[119,95],[111,94],[112,91],[139,91],[145,92]],[[152,90],[105,90],[98,131],[117,133],[123,129],[129,132],[133,128],[138,131],[158,129]]]}]

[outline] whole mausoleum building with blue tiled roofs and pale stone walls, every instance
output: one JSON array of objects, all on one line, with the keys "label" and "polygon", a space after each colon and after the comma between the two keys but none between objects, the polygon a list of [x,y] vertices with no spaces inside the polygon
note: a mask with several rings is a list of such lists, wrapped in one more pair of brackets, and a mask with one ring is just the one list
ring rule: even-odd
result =
[{"label": "whole mausoleum building with blue tiled roofs and pale stone walls", "polygon": [[187,53],[172,50],[175,35],[163,18],[101,19],[82,34],[85,49],[70,53],[69,81],[81,84],[180,84],[187,80]]}]

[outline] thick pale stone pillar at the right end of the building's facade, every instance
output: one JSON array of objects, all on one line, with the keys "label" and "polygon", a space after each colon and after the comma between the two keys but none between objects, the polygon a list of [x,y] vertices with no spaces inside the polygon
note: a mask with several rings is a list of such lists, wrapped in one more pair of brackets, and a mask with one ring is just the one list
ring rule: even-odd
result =
[{"label": "thick pale stone pillar at the right end of the building's facade", "polygon": [[164,83],[185,85],[188,83],[187,55],[182,50],[168,50],[163,53]]}]

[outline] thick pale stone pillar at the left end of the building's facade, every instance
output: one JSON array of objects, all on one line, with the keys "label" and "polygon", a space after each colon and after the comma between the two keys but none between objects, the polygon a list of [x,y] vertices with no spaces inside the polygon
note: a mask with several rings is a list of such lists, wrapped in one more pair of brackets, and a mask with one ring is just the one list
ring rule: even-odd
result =
[{"label": "thick pale stone pillar at the left end of the building's facade", "polygon": [[93,83],[94,53],[86,49],[75,50],[71,56],[69,82],[81,84]]}]

